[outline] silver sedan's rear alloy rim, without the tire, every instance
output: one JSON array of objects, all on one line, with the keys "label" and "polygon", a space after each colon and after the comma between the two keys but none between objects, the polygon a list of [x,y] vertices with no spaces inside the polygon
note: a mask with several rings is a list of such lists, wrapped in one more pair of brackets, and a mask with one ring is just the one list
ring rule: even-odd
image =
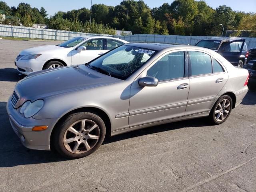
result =
[{"label": "silver sedan's rear alloy rim, without the tire", "polygon": [[230,112],[230,101],[228,99],[223,99],[217,105],[215,110],[215,119],[220,122],[223,121]]}]

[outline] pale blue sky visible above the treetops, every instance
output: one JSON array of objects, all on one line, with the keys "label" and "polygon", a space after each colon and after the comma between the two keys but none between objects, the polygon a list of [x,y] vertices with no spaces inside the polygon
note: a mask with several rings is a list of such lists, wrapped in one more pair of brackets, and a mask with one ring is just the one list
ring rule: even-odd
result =
[{"label": "pale blue sky visible above the treetops", "polygon": [[[20,2],[28,3],[32,7],[40,9],[44,7],[47,13],[54,15],[58,11],[67,12],[72,9],[79,9],[86,7],[90,9],[91,0],[2,0],[8,4],[8,6],[17,7]],[[116,6],[120,4],[122,0],[92,0],[92,4],[105,4],[109,6]],[[159,7],[163,3],[167,2],[171,4],[173,0],[144,0],[144,2],[150,7]],[[233,10],[244,12],[256,11],[256,0],[205,0],[205,2],[212,8],[217,8],[220,5],[230,6]]]}]

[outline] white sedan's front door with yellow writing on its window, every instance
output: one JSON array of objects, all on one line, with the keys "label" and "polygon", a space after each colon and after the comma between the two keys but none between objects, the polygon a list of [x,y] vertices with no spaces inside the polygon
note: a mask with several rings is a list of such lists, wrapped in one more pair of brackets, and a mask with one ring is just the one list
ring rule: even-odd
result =
[{"label": "white sedan's front door with yellow writing on its window", "polygon": [[106,52],[104,39],[90,39],[80,46],[85,46],[86,50],[78,52],[76,48],[72,51],[72,65],[85,64]]}]

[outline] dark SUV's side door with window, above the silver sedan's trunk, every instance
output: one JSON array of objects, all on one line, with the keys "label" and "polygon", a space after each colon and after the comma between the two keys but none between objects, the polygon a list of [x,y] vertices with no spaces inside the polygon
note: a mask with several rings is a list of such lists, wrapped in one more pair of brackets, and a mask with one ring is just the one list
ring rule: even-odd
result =
[{"label": "dark SUV's side door with window, above the silver sedan's trunk", "polygon": [[223,44],[220,47],[219,53],[231,64],[238,66],[239,60],[244,60],[245,58],[245,55],[242,54],[244,42],[244,39],[240,39]]}]

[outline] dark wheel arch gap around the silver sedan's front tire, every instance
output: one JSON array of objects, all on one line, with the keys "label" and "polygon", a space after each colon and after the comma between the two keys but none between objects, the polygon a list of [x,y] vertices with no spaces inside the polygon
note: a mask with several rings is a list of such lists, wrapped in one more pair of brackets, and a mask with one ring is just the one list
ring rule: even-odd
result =
[{"label": "dark wheel arch gap around the silver sedan's front tire", "polygon": [[110,137],[111,135],[111,122],[110,122],[110,118],[108,117],[108,115],[106,114],[106,112],[104,112],[102,109],[100,108],[96,108],[96,107],[82,107],[82,108],[77,108],[74,109],[66,114],[64,114],[54,125],[54,128],[52,129],[52,132],[50,134],[50,148],[53,148],[53,136],[54,136],[54,132],[56,130],[56,127],[62,122],[62,120],[64,120],[66,118],[66,116],[76,113],[76,112],[93,112],[98,114],[98,116],[100,116],[102,118],[102,120],[105,123],[106,126],[106,137]]}]

